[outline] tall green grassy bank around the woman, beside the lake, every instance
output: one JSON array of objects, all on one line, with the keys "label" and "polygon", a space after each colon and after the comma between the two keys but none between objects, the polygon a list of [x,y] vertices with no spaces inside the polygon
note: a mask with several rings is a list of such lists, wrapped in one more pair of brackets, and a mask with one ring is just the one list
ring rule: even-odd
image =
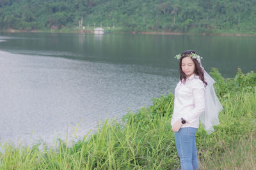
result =
[{"label": "tall green grassy bank around the woman, beside the lake", "polygon": [[[200,128],[196,143],[201,169],[255,169],[256,74],[223,78],[217,69],[216,94],[224,110],[220,125],[210,134]],[[153,99],[122,123],[106,120],[99,131],[72,145],[13,147],[1,143],[0,169],[177,169],[179,157],[171,131],[173,94]]]}]

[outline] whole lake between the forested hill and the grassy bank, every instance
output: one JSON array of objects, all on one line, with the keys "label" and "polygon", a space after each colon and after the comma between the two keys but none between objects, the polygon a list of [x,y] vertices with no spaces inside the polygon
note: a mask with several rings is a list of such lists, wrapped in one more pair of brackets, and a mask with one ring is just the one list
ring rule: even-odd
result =
[{"label": "whole lake between the forested hill and the grassy bank", "polygon": [[[255,71],[256,37],[0,33],[0,139],[77,138],[173,92],[173,57],[195,50],[207,71]],[[68,129],[68,132],[67,132]]]}]

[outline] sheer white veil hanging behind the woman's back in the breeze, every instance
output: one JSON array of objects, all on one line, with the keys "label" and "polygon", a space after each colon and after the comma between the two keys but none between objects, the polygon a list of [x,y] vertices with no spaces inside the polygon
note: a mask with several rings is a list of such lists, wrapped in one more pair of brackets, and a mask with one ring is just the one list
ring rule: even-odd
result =
[{"label": "sheer white veil hanging behind the woman's back in the breeze", "polygon": [[[202,67],[202,69],[204,70],[204,67]],[[218,117],[219,112],[223,110],[223,108],[214,91],[213,84],[215,81],[205,70],[204,79],[207,82],[207,86],[205,87],[205,110],[200,115],[200,121],[207,134],[211,134],[214,132],[213,126],[220,124]]]}]

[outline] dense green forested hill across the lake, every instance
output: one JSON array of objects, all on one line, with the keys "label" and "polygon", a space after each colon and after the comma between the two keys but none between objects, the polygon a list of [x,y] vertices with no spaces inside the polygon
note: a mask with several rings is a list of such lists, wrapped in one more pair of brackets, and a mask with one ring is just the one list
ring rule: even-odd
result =
[{"label": "dense green forested hill across the lake", "polygon": [[256,0],[0,0],[0,29],[256,32]]}]

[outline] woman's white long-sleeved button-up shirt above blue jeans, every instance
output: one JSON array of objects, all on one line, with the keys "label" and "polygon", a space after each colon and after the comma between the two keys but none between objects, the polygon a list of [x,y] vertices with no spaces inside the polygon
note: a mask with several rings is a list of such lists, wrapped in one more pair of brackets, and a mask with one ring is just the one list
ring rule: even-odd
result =
[{"label": "woman's white long-sleeved button-up shirt above blue jeans", "polygon": [[[199,76],[192,74],[185,83],[179,81],[175,88],[171,125],[184,118],[181,127],[199,127],[199,117],[205,107],[205,86]],[[180,120],[181,121],[181,120]]]}]

